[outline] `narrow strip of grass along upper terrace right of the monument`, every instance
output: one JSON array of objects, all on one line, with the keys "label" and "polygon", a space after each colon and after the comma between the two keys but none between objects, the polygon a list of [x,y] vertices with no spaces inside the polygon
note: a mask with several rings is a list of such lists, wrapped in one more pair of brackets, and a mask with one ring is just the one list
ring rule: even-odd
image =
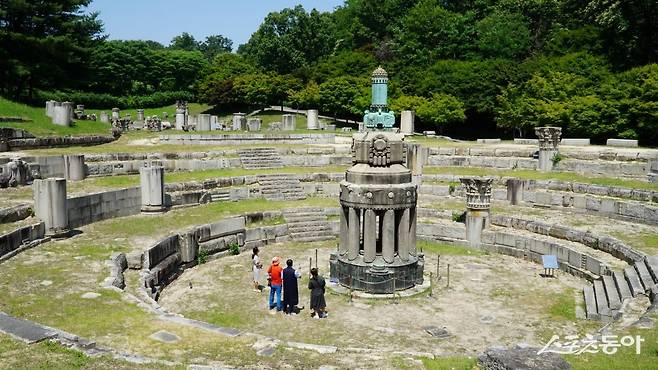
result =
[{"label": "narrow strip of grass along upper terrace right of the monument", "polygon": [[425,174],[463,175],[463,176],[507,176],[529,180],[575,181],[596,185],[621,186],[625,188],[658,190],[658,184],[640,180],[627,180],[614,177],[595,177],[579,175],[573,172],[540,172],[535,170],[501,170],[481,167],[425,167]]}]

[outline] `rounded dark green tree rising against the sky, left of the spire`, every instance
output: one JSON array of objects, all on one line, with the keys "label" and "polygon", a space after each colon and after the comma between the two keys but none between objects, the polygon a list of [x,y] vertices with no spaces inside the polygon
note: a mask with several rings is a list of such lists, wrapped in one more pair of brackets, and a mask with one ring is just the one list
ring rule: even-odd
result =
[{"label": "rounded dark green tree rising against the sky, left of the spire", "polygon": [[268,71],[280,74],[310,66],[335,45],[333,23],[326,13],[306,13],[301,5],[272,12],[238,52]]}]

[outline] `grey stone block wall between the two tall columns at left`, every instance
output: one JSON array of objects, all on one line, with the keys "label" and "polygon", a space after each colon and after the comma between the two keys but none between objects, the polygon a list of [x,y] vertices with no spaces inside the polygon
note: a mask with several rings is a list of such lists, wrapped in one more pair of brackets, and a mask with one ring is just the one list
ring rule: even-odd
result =
[{"label": "grey stone block wall between the two tall columns at left", "polygon": [[69,227],[136,215],[141,209],[141,199],[138,187],[68,198]]}]

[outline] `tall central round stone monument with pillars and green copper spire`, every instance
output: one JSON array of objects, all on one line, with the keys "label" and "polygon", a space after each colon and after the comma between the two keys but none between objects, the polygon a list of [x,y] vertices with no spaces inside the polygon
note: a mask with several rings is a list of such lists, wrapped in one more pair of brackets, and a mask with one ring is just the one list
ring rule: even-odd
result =
[{"label": "tall central round stone monument with pillars and green copper spire", "polygon": [[386,86],[374,86],[380,81],[373,78],[377,112],[366,113],[372,130],[352,138],[354,165],[340,183],[340,241],[330,262],[333,281],[375,294],[422,284],[424,267],[416,251],[417,186],[404,166],[404,135],[392,132]]}]

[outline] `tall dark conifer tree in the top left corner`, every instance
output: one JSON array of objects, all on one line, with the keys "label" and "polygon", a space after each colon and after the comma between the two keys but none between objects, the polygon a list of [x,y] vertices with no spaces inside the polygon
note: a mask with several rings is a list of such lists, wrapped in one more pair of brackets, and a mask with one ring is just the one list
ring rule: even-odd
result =
[{"label": "tall dark conifer tree in the top left corner", "polygon": [[77,87],[89,48],[103,39],[91,0],[0,2],[0,89],[19,98],[35,89]]}]

